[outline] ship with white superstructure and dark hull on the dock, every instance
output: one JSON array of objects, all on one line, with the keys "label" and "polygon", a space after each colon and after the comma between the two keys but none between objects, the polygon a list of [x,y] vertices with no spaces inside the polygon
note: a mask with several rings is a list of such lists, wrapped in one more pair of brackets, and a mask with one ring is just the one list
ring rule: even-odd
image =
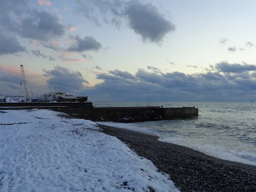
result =
[{"label": "ship with white superstructure and dark hull on the dock", "polygon": [[87,96],[74,96],[66,92],[62,92],[60,87],[58,91],[50,91],[49,93],[44,93],[40,96],[31,99],[31,102],[87,102]]}]

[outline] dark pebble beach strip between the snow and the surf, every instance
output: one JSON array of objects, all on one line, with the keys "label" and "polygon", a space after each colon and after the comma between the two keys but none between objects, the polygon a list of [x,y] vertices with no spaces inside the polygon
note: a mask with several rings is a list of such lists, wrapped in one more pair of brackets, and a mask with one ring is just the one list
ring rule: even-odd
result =
[{"label": "dark pebble beach strip between the snow and the surf", "polygon": [[[99,125],[105,134],[117,137],[141,157],[151,160],[182,192],[255,192],[256,166],[221,160],[157,136]],[[145,167],[146,169],[146,167]]]}]

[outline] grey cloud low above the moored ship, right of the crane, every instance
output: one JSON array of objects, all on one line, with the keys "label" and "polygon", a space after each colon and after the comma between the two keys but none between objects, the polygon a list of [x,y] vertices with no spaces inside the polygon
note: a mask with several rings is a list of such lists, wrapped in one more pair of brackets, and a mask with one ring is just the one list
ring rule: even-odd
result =
[{"label": "grey cloud low above the moored ship, right of the crane", "polygon": [[56,66],[53,70],[43,70],[44,76],[49,77],[47,84],[49,88],[61,87],[66,92],[76,92],[84,89],[89,84],[79,71],[69,70],[65,67]]}]

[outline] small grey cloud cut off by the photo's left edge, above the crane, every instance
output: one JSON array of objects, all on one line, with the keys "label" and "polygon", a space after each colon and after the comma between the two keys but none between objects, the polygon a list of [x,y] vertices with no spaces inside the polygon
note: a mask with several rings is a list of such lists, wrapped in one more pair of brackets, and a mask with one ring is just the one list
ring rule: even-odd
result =
[{"label": "small grey cloud cut off by the photo's left edge, above the crane", "polygon": [[4,34],[0,30],[0,55],[14,54],[25,51],[25,47],[20,46],[20,43],[15,36]]}]

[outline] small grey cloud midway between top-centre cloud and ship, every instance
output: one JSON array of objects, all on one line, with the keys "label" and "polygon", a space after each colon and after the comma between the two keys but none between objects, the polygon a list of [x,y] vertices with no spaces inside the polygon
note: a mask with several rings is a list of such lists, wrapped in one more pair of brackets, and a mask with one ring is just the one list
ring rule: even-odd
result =
[{"label": "small grey cloud midway between top-centre cloud and ship", "polygon": [[79,35],[71,36],[75,44],[71,45],[67,50],[71,52],[98,51],[102,49],[102,45],[92,36],[81,38]]}]

